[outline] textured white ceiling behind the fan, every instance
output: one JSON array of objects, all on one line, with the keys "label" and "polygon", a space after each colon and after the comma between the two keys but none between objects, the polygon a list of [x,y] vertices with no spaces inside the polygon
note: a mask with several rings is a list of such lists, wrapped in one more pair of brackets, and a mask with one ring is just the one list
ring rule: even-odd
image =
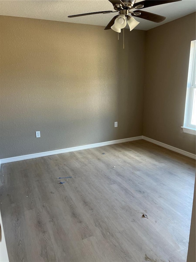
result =
[{"label": "textured white ceiling behind the fan", "polygon": [[[141,0],[138,0],[137,2],[140,1]],[[136,18],[136,20],[138,20],[140,24],[135,29],[149,30],[153,27],[173,21],[187,14],[194,13],[196,9],[195,6],[195,0],[183,0],[180,2],[145,8],[143,9],[144,11],[163,15],[167,18],[162,23],[154,23],[141,18]],[[89,25],[106,26],[116,14],[94,14],[77,18],[68,18],[67,16],[105,10],[114,10],[112,4],[108,0],[0,1],[0,15],[37,18]]]}]

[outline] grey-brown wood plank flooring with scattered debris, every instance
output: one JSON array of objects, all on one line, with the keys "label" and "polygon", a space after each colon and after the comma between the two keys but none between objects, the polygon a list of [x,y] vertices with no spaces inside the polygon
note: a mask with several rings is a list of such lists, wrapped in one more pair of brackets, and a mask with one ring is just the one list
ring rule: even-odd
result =
[{"label": "grey-brown wood plank flooring with scattered debris", "polygon": [[185,262],[194,177],[144,140],[2,164],[9,260]]}]

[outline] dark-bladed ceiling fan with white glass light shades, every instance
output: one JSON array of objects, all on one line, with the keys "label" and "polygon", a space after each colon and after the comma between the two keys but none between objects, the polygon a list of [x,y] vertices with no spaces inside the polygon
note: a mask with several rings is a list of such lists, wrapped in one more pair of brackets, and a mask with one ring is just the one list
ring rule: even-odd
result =
[{"label": "dark-bladed ceiling fan with white glass light shades", "polygon": [[[166,17],[152,14],[149,12],[142,11],[140,9],[150,7],[150,6],[158,6],[162,4],[167,4],[171,2],[178,2],[182,0],[145,0],[136,3],[137,0],[108,0],[112,3],[115,11],[100,11],[100,12],[93,12],[93,13],[86,13],[86,14],[75,14],[69,15],[68,17],[78,17],[90,14],[109,14],[109,13],[119,13],[115,17],[111,19],[109,24],[105,27],[104,30],[112,29],[118,33],[121,32],[121,29],[125,28],[126,24],[129,25],[130,31],[133,30],[139,22],[135,20],[133,17],[143,18],[152,22],[160,23],[163,22]],[[132,11],[133,9],[137,9]],[[132,17],[130,17],[130,15]]]}]

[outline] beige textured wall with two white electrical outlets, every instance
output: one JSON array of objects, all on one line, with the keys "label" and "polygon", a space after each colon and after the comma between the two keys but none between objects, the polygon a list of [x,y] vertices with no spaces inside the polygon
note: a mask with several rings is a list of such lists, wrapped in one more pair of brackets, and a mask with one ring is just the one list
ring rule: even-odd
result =
[{"label": "beige textured wall with two white electrical outlets", "polygon": [[0,22],[0,158],[142,135],[145,31]]}]

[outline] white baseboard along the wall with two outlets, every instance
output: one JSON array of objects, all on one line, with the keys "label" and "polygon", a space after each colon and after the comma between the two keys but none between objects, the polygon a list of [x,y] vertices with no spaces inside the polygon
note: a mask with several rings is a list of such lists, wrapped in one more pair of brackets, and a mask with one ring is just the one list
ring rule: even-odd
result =
[{"label": "white baseboard along the wall with two outlets", "polygon": [[78,150],[88,149],[88,148],[93,148],[93,147],[103,147],[103,146],[107,146],[107,145],[125,143],[125,142],[129,142],[129,141],[140,140],[140,139],[142,139],[142,135],[130,137],[130,138],[119,139],[119,140],[95,143],[95,144],[90,144],[90,145],[78,146],[78,147],[69,147],[69,148],[40,152],[40,153],[35,153],[35,154],[28,154],[28,155],[20,155],[20,156],[9,157],[9,158],[2,158],[2,159],[0,159],[0,162],[1,162],[1,164],[3,164],[3,163],[15,162],[15,161],[20,161],[20,160],[25,160],[25,159],[36,158],[36,157],[42,157],[42,156],[48,156],[48,155],[54,155],[54,154],[61,154],[61,153],[67,153],[67,152],[72,152],[72,151],[78,151]]}]

